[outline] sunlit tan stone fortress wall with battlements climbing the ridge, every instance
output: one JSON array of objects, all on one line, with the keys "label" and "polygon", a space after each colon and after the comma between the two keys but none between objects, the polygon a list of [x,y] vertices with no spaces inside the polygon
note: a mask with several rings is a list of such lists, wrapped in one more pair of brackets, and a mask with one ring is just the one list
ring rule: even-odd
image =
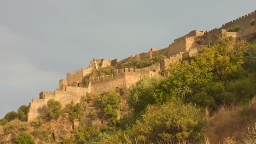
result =
[{"label": "sunlit tan stone fortress wall with battlements climbing the ridge", "polygon": [[[54,92],[41,92],[39,99],[32,99],[30,103],[30,110],[27,115],[27,120],[32,121],[34,118],[40,115],[46,103],[49,99],[59,100],[62,106],[71,103],[79,103],[81,97],[86,93],[97,92],[102,93],[104,91],[111,91],[121,87],[131,87],[138,82],[143,76],[158,76],[159,71],[168,67],[168,65],[175,61],[181,61],[187,57],[193,57],[198,51],[200,51],[200,45],[214,43],[218,39],[217,35],[226,33],[228,36],[235,38],[247,38],[250,35],[256,33],[256,23],[254,26],[249,25],[252,20],[256,20],[256,10],[245,16],[239,17],[236,20],[225,23],[220,28],[214,28],[211,31],[191,31],[181,38],[175,39],[168,47],[157,50],[155,48],[150,49],[149,52],[139,53],[138,55],[132,55],[118,62],[118,59],[107,61],[105,59],[92,59],[89,68],[80,69],[73,73],[67,73],[66,80],[60,80],[59,88]],[[226,29],[232,26],[239,26],[240,32],[226,32]],[[135,59],[147,59],[158,55],[166,56],[162,59],[158,68],[155,71],[150,68],[143,69],[115,69],[112,75],[92,77],[90,79],[89,86],[84,87],[71,87],[72,83],[82,82],[83,77],[92,73],[92,70],[98,68],[104,68],[109,65],[118,67],[120,64],[133,61]]]}]

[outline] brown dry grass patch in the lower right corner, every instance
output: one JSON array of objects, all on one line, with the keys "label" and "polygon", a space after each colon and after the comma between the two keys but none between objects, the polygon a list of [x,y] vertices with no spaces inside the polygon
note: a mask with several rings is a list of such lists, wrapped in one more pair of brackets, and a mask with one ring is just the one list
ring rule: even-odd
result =
[{"label": "brown dry grass patch in the lower right corner", "polygon": [[211,143],[234,143],[246,139],[248,128],[256,122],[256,98],[251,103],[232,108],[220,107],[218,113],[209,119],[207,131]]}]

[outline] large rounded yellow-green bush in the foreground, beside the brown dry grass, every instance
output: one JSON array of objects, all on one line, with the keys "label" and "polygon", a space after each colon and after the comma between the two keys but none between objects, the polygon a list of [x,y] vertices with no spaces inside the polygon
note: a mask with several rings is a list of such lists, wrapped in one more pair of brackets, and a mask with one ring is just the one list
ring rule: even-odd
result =
[{"label": "large rounded yellow-green bush in the foreground, beside the brown dry grass", "polygon": [[199,109],[169,102],[161,106],[148,106],[141,121],[133,125],[132,133],[137,140],[148,142],[177,142],[178,140],[199,141],[204,122]]}]

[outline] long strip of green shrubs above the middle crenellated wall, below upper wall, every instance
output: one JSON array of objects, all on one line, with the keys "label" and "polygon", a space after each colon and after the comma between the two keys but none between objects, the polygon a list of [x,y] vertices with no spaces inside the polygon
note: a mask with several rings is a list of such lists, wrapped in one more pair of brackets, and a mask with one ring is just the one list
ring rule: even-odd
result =
[{"label": "long strip of green shrubs above the middle crenellated wall, below upper wall", "polygon": [[129,61],[121,64],[119,68],[135,68],[135,69],[146,68],[146,67],[149,67],[150,65],[158,63],[163,58],[164,56],[158,55],[158,56],[148,58],[148,59],[143,59],[143,60],[136,59],[134,61]]}]

